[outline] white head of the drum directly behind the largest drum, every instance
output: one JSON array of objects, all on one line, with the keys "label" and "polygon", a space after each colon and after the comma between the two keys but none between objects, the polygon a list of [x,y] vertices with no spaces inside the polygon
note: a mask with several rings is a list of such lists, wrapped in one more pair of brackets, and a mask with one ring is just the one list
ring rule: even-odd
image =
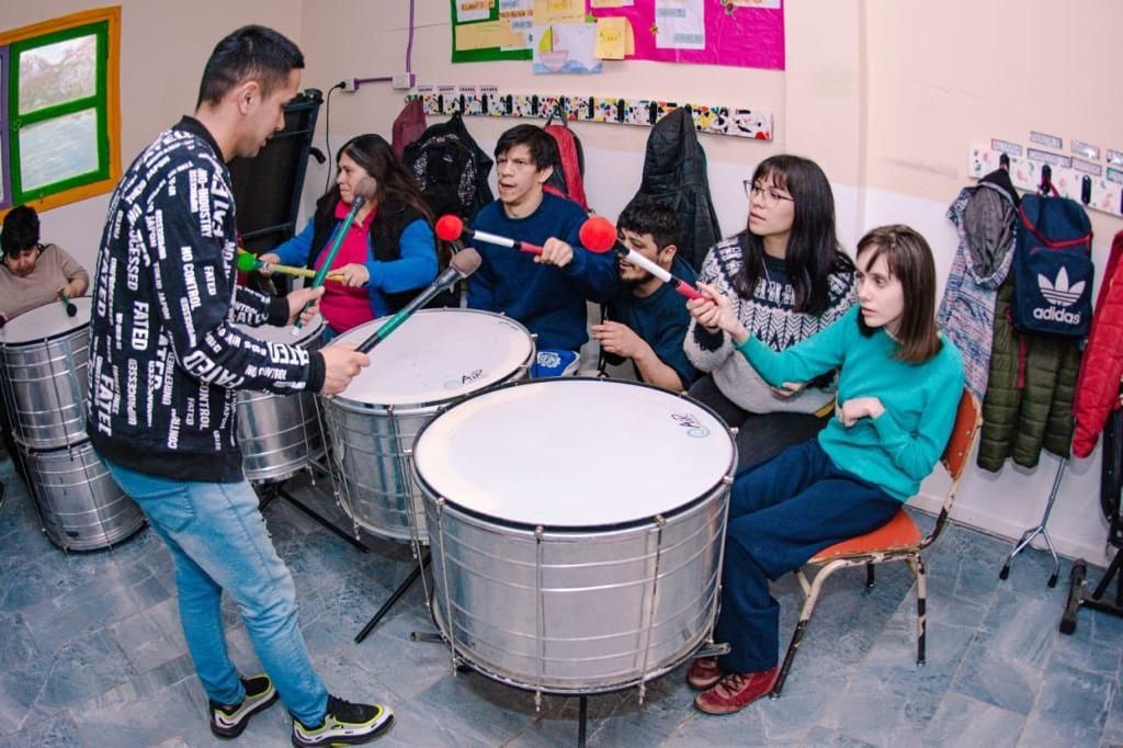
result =
[{"label": "white head of the drum directly behind the largest drum", "polygon": [[[384,321],[360,325],[331,343],[362,343]],[[527,328],[500,314],[422,310],[371,350],[371,365],[336,399],[376,405],[445,402],[502,382],[527,364],[532,349]]]}]

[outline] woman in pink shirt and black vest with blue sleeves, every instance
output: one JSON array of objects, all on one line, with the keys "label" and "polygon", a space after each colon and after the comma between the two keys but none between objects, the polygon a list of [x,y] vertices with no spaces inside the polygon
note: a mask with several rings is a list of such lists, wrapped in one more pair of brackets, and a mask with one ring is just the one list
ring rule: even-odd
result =
[{"label": "woman in pink shirt and black vest with blue sleeves", "polygon": [[319,268],[355,199],[358,183],[374,179],[374,200],[355,217],[329,270],[341,282],[325,284],[320,311],[329,337],[395,312],[437,276],[432,212],[413,175],[380,135],[360,135],[339,148],[336,183],[316,203],[299,235],[259,259]]}]

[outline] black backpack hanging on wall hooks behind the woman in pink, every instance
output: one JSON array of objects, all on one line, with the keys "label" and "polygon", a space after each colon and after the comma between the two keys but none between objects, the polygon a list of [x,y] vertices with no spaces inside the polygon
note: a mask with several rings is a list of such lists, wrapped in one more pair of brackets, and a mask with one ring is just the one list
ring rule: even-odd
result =
[{"label": "black backpack hanging on wall hooks behind the woman in pink", "polygon": [[471,221],[492,201],[487,173],[493,162],[468,135],[459,112],[408,145],[402,161],[437,217],[451,213]]}]

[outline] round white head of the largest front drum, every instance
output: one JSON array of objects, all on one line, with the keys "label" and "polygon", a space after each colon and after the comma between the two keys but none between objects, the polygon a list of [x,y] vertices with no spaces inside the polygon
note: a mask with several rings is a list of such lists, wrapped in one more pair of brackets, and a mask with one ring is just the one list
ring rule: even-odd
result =
[{"label": "round white head of the largest front drum", "polygon": [[669,392],[542,380],[482,393],[418,437],[422,483],[458,507],[524,526],[650,520],[709,494],[732,466],[724,423]]}]

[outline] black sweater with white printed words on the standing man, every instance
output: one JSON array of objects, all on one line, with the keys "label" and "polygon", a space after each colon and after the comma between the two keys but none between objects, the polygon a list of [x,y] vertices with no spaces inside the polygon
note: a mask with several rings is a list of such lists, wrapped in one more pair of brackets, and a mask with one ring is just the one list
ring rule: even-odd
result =
[{"label": "black sweater with white printed words on the standing man", "polygon": [[86,431],[148,475],[243,478],[236,390],[317,392],[323,357],[234,327],[284,325],[285,299],[236,285],[230,174],[190,117],[156,138],[109,203],[93,283]]}]

